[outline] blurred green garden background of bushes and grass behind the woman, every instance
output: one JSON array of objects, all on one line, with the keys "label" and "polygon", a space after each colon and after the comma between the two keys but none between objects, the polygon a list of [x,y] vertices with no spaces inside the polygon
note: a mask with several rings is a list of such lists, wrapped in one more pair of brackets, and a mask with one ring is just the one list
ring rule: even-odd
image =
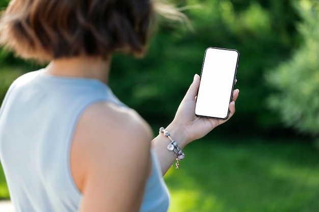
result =
[{"label": "blurred green garden background of bushes and grass behind the woman", "polygon": [[[241,93],[231,120],[186,147],[181,169],[166,175],[170,211],[319,211],[318,1],[171,2],[190,7],[194,31],[163,21],[144,58],[115,55],[114,93],[165,127],[209,46],[240,52]],[[0,64],[0,102],[16,77],[41,68],[3,49]],[[0,198],[9,198],[3,175]]]}]

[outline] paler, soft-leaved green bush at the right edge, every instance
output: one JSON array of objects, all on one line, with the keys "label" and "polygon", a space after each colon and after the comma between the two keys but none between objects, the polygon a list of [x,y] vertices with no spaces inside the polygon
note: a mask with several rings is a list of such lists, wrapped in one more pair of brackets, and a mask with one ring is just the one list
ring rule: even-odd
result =
[{"label": "paler, soft-leaved green bush at the right edge", "polygon": [[276,91],[268,103],[285,125],[319,136],[319,2],[303,0],[296,8],[303,19],[298,27],[303,42],[291,58],[266,75]]}]

